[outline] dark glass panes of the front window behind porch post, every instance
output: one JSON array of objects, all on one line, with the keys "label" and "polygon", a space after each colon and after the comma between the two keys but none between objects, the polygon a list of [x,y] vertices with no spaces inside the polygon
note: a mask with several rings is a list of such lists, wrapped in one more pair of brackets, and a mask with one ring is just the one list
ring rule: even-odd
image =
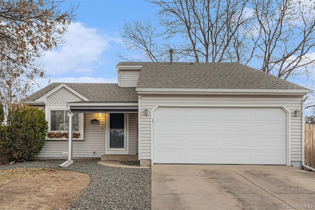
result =
[{"label": "dark glass panes of the front window behind porch post", "polygon": [[[74,132],[79,132],[79,114],[73,113],[72,126]],[[65,110],[51,110],[50,111],[50,131],[69,130],[69,117]]]}]

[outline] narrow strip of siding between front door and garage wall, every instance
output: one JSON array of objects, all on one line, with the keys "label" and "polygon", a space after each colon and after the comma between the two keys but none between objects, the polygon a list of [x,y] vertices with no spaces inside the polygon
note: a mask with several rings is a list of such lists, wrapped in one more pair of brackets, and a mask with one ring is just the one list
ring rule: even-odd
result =
[{"label": "narrow strip of siding between front door and garage wall", "polygon": [[137,153],[137,124],[138,114],[129,114],[129,155]]}]

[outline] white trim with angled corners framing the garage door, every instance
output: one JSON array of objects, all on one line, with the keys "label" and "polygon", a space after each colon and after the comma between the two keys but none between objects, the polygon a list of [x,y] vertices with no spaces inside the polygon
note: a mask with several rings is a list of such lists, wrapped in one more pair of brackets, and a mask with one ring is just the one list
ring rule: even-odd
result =
[{"label": "white trim with angled corners framing the garage door", "polygon": [[286,112],[286,165],[290,166],[290,110],[284,105],[156,105],[151,110],[151,161],[154,164],[154,111],[159,107],[188,107],[188,108],[282,108]]}]

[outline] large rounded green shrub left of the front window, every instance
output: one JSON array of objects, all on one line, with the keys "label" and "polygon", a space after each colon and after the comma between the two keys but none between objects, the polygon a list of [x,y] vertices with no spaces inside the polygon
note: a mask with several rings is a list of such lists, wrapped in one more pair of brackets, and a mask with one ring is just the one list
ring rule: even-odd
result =
[{"label": "large rounded green shrub left of the front window", "polygon": [[48,122],[43,110],[15,105],[7,117],[6,147],[15,160],[24,161],[38,154],[45,144]]}]

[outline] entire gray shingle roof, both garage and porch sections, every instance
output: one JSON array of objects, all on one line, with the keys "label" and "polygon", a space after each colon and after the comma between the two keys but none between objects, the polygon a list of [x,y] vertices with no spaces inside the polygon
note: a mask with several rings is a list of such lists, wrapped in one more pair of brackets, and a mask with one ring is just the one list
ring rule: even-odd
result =
[{"label": "entire gray shingle roof, both garage and porch sections", "polygon": [[[309,90],[300,85],[239,63],[120,62],[142,66],[137,88]],[[62,83],[52,83],[23,101],[35,101]],[[65,83],[90,100],[85,103],[137,103],[135,88],[116,83]],[[83,103],[83,102],[82,102]]]}]

